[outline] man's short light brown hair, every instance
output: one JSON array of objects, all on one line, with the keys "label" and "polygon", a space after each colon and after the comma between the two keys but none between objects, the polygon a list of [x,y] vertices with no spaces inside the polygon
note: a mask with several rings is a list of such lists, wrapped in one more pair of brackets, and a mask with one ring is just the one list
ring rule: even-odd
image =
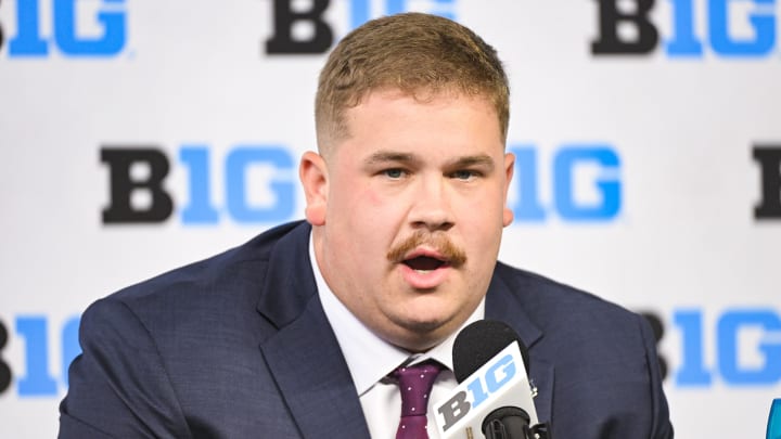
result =
[{"label": "man's short light brown hair", "polygon": [[421,13],[386,16],[340,41],[320,72],[315,102],[321,154],[349,135],[345,111],[381,89],[398,89],[415,99],[440,92],[484,96],[507,139],[510,87],[501,61],[491,46],[450,20]]}]

